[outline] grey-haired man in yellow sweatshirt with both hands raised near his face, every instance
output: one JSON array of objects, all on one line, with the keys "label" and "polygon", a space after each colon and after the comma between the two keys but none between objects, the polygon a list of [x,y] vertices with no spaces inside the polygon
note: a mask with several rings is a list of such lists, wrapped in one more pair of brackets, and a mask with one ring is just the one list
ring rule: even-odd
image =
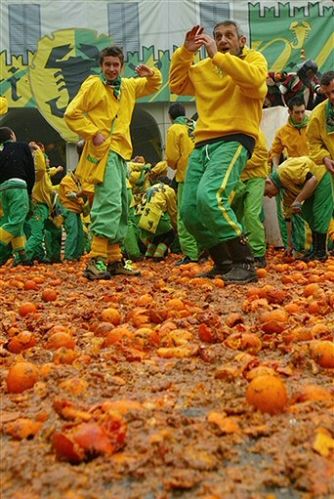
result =
[{"label": "grey-haired man in yellow sweatshirt with both hands raised near his face", "polygon": [[[208,57],[193,64],[201,47]],[[266,77],[265,58],[246,47],[234,21],[217,24],[213,38],[194,26],[172,56],[171,91],[194,95],[198,112],[181,217],[214,261],[209,276],[223,274],[225,282],[257,280],[252,252],[230,201],[258,137]]]}]

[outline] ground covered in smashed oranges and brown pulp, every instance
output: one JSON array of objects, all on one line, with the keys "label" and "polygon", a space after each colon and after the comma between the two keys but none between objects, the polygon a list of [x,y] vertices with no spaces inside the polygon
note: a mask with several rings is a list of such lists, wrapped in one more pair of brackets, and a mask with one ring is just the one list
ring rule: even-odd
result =
[{"label": "ground covered in smashed oranges and brown pulp", "polygon": [[334,496],[334,258],[0,267],[3,498]]}]

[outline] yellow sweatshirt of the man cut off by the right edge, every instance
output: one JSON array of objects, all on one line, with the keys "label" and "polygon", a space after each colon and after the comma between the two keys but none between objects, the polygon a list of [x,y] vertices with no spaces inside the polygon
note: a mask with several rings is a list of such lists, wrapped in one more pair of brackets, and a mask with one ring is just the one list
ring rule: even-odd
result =
[{"label": "yellow sweatshirt of the man cut off by the right edge", "polygon": [[328,99],[315,107],[310,116],[307,127],[307,137],[310,143],[310,157],[318,165],[323,164],[324,158],[334,160],[334,133],[328,134],[325,123],[325,108]]}]

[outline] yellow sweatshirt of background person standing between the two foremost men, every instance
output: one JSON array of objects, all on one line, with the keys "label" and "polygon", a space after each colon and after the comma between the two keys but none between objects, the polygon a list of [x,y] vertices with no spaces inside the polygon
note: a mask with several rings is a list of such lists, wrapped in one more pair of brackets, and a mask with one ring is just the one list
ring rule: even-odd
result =
[{"label": "yellow sweatshirt of background person standing between the two foremost men", "polygon": [[176,182],[184,182],[189,156],[194,149],[194,141],[189,136],[189,128],[174,123],[167,130],[166,160],[168,166],[176,170]]}]

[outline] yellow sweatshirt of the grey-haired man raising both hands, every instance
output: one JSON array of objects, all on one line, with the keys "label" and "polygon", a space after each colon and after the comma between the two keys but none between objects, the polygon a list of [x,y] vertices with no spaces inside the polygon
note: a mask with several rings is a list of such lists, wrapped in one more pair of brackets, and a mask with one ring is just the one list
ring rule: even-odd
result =
[{"label": "yellow sweatshirt of the grey-haired man raising both hands", "polygon": [[177,49],[169,84],[177,95],[195,95],[198,120],[195,144],[235,133],[257,139],[267,94],[267,61],[244,47],[241,57],[218,52],[193,64],[194,54]]}]

